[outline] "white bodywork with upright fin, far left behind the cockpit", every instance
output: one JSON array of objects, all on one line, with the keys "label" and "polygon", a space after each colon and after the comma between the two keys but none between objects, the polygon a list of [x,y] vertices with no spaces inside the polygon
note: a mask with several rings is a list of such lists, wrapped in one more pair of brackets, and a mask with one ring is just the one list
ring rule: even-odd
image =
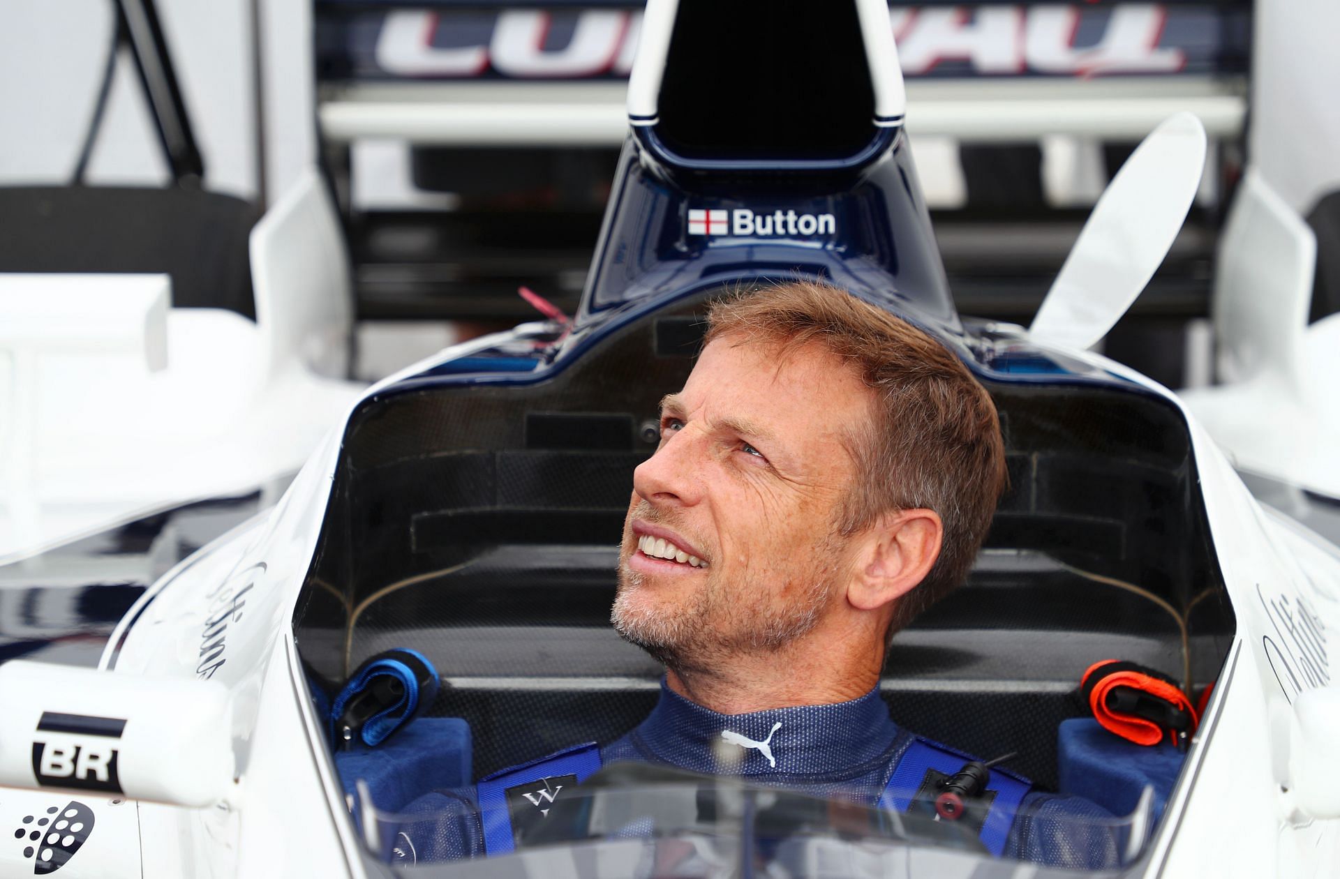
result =
[{"label": "white bodywork with upright fin, far left behind the cockpit", "polygon": [[[15,291],[0,296],[0,563],[292,474],[362,395],[326,378],[344,371],[352,293],[314,170],[251,253],[256,322],[163,308],[166,276],[0,279]],[[59,306],[43,320],[34,297]],[[92,315],[86,332],[68,332],[70,314]]]}]

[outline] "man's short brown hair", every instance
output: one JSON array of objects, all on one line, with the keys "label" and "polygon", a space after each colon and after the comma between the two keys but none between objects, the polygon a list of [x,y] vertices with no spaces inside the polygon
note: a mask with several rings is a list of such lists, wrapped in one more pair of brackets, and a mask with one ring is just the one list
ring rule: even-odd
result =
[{"label": "man's short brown hair", "polygon": [[898,509],[939,513],[939,557],[903,596],[890,634],[967,576],[1005,488],[996,405],[941,342],[836,287],[796,281],[712,304],[705,344],[724,336],[784,352],[821,344],[875,394],[872,423],[852,425],[856,482],[836,523],[843,535]]}]

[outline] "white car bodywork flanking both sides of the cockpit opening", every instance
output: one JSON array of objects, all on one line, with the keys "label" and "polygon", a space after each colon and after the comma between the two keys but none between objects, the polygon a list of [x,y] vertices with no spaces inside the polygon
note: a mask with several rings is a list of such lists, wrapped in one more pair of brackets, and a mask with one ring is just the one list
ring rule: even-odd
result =
[{"label": "white car bodywork flanking both sides of the cockpit opening", "polygon": [[[496,342],[480,339],[441,359]],[[1101,355],[1059,352],[1175,402],[1167,390]],[[1306,736],[1293,703],[1319,687],[1335,695],[1325,632],[1340,628],[1340,553],[1264,509],[1190,421],[1238,632],[1151,843],[1147,875],[1329,875],[1340,863],[1340,820],[1309,817],[1284,788],[1296,787],[1290,772],[1308,770],[1306,760],[1317,756],[1297,744]],[[239,773],[234,796],[206,808],[82,797],[106,825],[63,868],[66,875],[138,876],[141,848],[146,876],[363,875],[360,843],[322,744],[322,721],[306,693],[291,628],[338,456],[338,435],[331,434],[279,506],[146,592],[103,657],[103,669],[113,661],[115,666],[105,674],[206,678],[226,687]],[[1320,642],[1309,640],[1302,615],[1320,628]],[[202,653],[205,632],[214,640]],[[52,694],[42,707],[83,706],[78,694],[68,698],[74,701],[67,705]],[[1311,729],[1315,734],[1316,726]],[[0,813],[17,828],[24,815],[56,799],[60,795],[9,791],[0,796]],[[1340,815],[1336,803],[1324,805]],[[1313,803],[1313,815],[1316,809]],[[127,815],[138,816],[138,839]],[[19,855],[15,847],[0,848],[4,875],[29,863]]]}]

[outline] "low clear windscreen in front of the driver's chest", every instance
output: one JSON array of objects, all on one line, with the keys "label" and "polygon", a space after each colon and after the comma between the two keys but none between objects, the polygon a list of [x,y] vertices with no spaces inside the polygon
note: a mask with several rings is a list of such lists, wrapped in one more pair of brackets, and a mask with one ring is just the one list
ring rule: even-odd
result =
[{"label": "low clear windscreen in front of the driver's chest", "polygon": [[[996,858],[982,839],[984,804],[969,803],[959,820],[939,816],[933,799],[915,791],[906,811],[843,797],[757,787],[729,776],[645,764],[612,764],[564,792],[544,815],[515,805],[462,811],[453,804],[414,813],[355,808],[368,852],[394,871],[423,876],[980,876],[1036,875],[1036,863],[1005,852]],[[1120,870],[1140,858],[1148,809],[1127,816],[1080,817],[1020,809],[1016,820],[1034,832],[1065,839],[1073,863]],[[513,851],[462,858],[450,840],[462,827],[509,827]],[[548,872],[547,872],[548,871]]]}]

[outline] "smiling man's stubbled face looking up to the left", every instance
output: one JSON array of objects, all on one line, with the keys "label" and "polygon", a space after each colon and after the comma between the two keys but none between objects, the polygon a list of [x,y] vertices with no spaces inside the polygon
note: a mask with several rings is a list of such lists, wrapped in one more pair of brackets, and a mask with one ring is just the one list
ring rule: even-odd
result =
[{"label": "smiling man's stubbled face looking up to the left", "polygon": [[689,670],[811,631],[842,600],[835,523],[855,481],[843,437],[870,417],[870,390],[817,346],[783,358],[770,343],[712,342],[634,474],[619,634]]}]

